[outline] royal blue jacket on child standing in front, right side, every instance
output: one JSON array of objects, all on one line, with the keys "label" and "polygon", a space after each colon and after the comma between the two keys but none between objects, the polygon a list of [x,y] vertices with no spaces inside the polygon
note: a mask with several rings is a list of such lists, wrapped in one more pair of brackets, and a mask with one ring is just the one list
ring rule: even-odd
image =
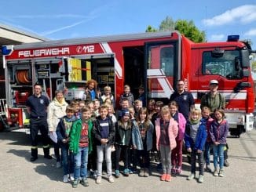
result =
[{"label": "royal blue jacket on child standing in front, right side", "polygon": [[190,129],[192,124],[190,121],[187,122],[185,129],[185,146],[186,149],[191,148],[192,150],[204,150],[204,145],[207,141],[207,128],[206,119],[202,118],[199,122],[199,128],[196,132],[196,142],[194,143],[192,137],[190,136]]}]

